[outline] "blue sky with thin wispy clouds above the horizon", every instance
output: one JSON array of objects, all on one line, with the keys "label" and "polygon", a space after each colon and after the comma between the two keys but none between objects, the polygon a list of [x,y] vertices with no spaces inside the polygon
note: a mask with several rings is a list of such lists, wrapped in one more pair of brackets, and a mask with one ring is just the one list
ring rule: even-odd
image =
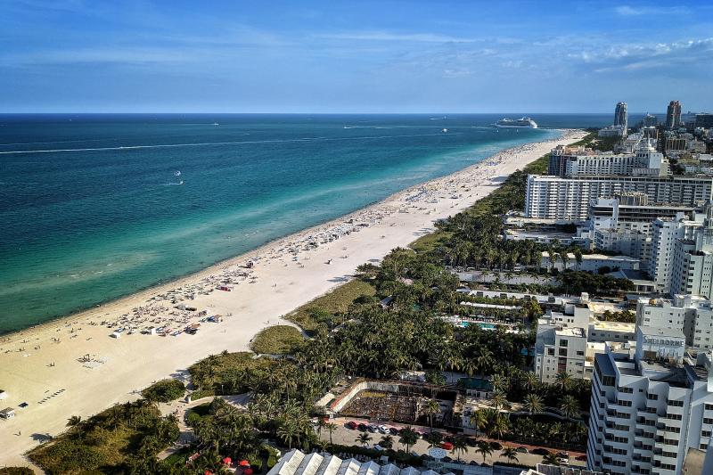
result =
[{"label": "blue sky with thin wispy clouds above the horizon", "polygon": [[0,112],[713,111],[713,2],[0,0]]}]

